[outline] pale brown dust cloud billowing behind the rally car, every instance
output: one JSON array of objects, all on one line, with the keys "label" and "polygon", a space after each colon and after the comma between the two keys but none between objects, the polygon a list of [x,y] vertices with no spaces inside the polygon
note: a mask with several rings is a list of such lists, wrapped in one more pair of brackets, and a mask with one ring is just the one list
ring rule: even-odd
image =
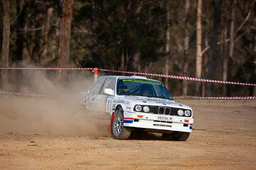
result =
[{"label": "pale brown dust cloud billowing behind the rally car", "polygon": [[56,81],[57,73],[22,71],[22,80],[10,83],[9,89],[19,89],[16,92],[47,97],[0,94],[0,132],[109,136],[108,124],[88,116],[79,103],[79,93],[93,84],[92,73],[68,71],[65,84]]}]

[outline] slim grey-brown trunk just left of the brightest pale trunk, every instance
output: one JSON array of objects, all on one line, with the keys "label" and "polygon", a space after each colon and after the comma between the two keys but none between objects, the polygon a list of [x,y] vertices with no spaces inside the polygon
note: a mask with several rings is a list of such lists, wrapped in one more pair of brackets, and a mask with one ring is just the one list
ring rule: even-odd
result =
[{"label": "slim grey-brown trunk just left of the brightest pale trunk", "polygon": [[[190,9],[190,0],[186,0],[185,4],[185,38],[184,38],[184,75],[188,76],[188,66],[189,66],[189,31],[188,31],[188,20],[189,20],[189,9]],[[188,95],[188,81],[182,81],[182,96]]]}]

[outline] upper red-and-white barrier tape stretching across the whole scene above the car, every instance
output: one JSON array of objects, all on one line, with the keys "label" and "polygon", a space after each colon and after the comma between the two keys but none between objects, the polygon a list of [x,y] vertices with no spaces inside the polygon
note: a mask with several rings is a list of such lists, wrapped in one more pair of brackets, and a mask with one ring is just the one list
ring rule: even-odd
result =
[{"label": "upper red-and-white barrier tape stretching across the whole scene above the car", "polygon": [[[97,68],[38,68],[38,67],[0,67],[0,69],[36,69],[36,70],[96,70]],[[172,78],[177,80],[189,80],[189,81],[204,81],[209,83],[223,83],[223,84],[231,84],[231,85],[250,85],[250,86],[256,86],[256,84],[252,83],[239,83],[239,82],[231,82],[231,81],[221,81],[221,80],[208,80],[208,79],[202,79],[202,78],[191,78],[191,77],[184,77],[184,76],[172,76],[172,75],[166,75],[166,74],[154,74],[154,73],[138,73],[138,72],[131,72],[131,71],[116,71],[116,70],[110,70],[110,69],[97,69],[99,71],[109,71],[109,72],[115,72],[115,73],[127,73],[127,74],[138,74],[138,75],[145,75],[145,76],[159,76],[159,77],[165,77],[165,78]]]}]

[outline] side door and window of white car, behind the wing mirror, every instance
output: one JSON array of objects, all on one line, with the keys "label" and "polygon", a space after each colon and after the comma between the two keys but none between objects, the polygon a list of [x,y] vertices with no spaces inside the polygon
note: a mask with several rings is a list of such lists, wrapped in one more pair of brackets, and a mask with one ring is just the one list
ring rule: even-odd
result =
[{"label": "side door and window of white car, behind the wing mirror", "polygon": [[108,108],[111,104],[111,99],[113,99],[113,94],[106,94],[105,89],[111,89],[114,92],[115,89],[115,78],[107,78],[102,88],[102,92],[96,97],[97,100],[97,112],[107,113]]}]

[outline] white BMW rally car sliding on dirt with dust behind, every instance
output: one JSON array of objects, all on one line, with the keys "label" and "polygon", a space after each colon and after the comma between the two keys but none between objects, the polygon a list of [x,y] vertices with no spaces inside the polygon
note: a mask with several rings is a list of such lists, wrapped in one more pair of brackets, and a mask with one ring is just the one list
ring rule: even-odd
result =
[{"label": "white BMW rally car sliding on dirt with dust behind", "polygon": [[115,139],[148,131],[186,141],[192,132],[193,110],[175,103],[163,83],[144,76],[102,76],[79,100],[93,115],[109,118]]}]

